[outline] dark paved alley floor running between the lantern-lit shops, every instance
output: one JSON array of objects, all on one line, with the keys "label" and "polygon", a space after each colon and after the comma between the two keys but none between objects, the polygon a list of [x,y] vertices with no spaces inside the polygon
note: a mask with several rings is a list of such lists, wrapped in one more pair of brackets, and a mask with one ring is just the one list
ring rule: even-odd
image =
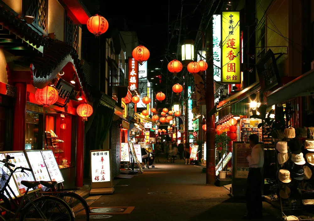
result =
[{"label": "dark paved alley floor running between the lantern-lit shops", "polygon": [[[224,187],[205,184],[205,173],[194,165],[156,163],[154,169],[144,169],[143,174],[132,179],[121,179],[113,195],[91,196],[96,199],[91,209],[117,207],[124,211],[106,213],[111,220],[242,220],[246,213],[243,199],[229,196]],[[171,192],[151,195],[149,192]],[[279,210],[263,203],[263,220],[276,218]],[[94,215],[97,213],[93,213]]]}]

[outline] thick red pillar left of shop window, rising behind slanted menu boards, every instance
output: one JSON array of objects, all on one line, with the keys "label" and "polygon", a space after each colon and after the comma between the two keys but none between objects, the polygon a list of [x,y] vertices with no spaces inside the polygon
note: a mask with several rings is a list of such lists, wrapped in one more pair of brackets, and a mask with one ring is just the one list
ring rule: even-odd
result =
[{"label": "thick red pillar left of shop window, rising behind slanted menu boards", "polygon": [[26,82],[16,82],[16,100],[14,107],[14,139],[13,150],[25,149],[25,125],[26,125]]}]

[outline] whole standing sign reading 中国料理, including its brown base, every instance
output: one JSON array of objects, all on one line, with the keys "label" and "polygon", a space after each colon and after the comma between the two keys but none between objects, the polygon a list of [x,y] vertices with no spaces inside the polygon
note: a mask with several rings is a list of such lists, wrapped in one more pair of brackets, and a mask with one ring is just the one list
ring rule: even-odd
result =
[{"label": "whole standing sign reading \u4e2d\u56fd\u6599\u7406, including its brown base", "polygon": [[111,194],[115,190],[111,175],[110,150],[90,151],[91,190],[90,194]]}]

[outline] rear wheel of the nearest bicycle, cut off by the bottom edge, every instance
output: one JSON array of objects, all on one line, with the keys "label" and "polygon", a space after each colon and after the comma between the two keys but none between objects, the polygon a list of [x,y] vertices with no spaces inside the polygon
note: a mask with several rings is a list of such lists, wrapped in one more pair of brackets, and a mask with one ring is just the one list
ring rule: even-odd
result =
[{"label": "rear wheel of the nearest bicycle, cut off by the bottom edge", "polygon": [[68,203],[57,196],[40,196],[28,202],[22,209],[20,221],[49,220],[74,221],[74,213]]}]

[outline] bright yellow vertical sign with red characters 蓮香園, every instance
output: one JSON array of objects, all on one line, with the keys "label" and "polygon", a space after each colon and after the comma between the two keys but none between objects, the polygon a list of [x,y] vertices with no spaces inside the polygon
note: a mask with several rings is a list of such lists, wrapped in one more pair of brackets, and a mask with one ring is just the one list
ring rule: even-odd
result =
[{"label": "bright yellow vertical sign with red characters \u84ee\u9999\u5712", "polygon": [[222,12],[221,82],[240,84],[240,12]]}]

